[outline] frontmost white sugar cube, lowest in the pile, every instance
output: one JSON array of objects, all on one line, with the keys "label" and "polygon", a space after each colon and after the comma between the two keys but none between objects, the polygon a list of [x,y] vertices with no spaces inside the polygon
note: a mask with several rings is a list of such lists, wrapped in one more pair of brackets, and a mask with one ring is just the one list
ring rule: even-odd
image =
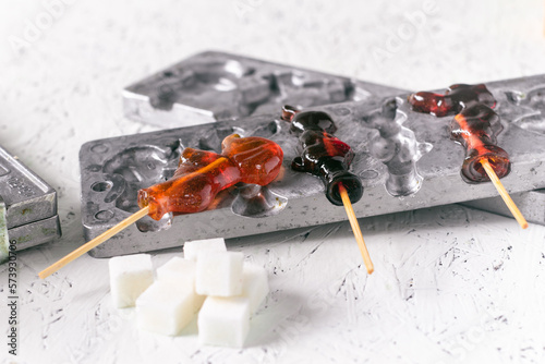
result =
[{"label": "frontmost white sugar cube, lowest in the pile", "polygon": [[250,303],[241,296],[208,296],[197,325],[202,344],[242,348],[250,331]]}]

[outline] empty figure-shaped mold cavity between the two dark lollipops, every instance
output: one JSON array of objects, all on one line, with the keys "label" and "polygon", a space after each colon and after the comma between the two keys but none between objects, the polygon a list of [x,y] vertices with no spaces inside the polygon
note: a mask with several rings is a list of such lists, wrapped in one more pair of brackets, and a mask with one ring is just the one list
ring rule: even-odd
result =
[{"label": "empty figure-shaped mold cavity between the two dark lollipops", "polygon": [[377,133],[371,139],[371,155],[388,170],[386,191],[392,196],[408,196],[422,186],[416,161],[432,149],[429,143],[419,143],[414,132],[402,126],[407,116],[398,110],[400,99],[386,101],[380,110],[363,117],[362,122]]}]

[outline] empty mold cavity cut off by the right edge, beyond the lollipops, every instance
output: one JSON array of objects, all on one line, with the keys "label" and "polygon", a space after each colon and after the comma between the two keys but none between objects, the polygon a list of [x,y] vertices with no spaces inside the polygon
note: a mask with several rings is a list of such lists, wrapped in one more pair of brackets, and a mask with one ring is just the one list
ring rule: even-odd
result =
[{"label": "empty mold cavity cut off by the right edge, beyond the lollipops", "polygon": [[507,104],[501,106],[505,120],[536,134],[545,134],[545,86],[521,93],[506,92]]}]

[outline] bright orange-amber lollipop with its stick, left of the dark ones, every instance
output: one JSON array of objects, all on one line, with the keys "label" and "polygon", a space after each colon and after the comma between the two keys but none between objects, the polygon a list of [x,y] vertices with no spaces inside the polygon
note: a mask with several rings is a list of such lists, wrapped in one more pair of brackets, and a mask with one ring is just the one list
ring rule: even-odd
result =
[{"label": "bright orange-amber lollipop with its stick, left of the dark ones", "polygon": [[50,276],[146,215],[159,220],[167,213],[198,213],[208,208],[220,191],[235,183],[269,184],[282,166],[280,146],[263,137],[233,134],[223,139],[221,149],[221,154],[216,154],[185,148],[172,179],[138,191],[138,211],[53,263],[38,276],[43,279]]}]

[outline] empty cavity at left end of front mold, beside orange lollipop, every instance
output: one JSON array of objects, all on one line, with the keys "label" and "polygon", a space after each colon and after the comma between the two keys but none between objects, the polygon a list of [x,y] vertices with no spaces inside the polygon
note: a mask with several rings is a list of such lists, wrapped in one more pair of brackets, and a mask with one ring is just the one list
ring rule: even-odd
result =
[{"label": "empty cavity at left end of front mold, beside orange lollipop", "polygon": [[[166,148],[137,146],[126,148],[107,160],[102,167],[104,182],[93,184],[94,191],[106,193],[105,203],[128,213],[138,210],[137,193],[171,178],[178,166],[182,146],[179,141]],[[170,226],[171,217],[155,221],[145,217],[136,222],[141,231],[157,231]]]}]

